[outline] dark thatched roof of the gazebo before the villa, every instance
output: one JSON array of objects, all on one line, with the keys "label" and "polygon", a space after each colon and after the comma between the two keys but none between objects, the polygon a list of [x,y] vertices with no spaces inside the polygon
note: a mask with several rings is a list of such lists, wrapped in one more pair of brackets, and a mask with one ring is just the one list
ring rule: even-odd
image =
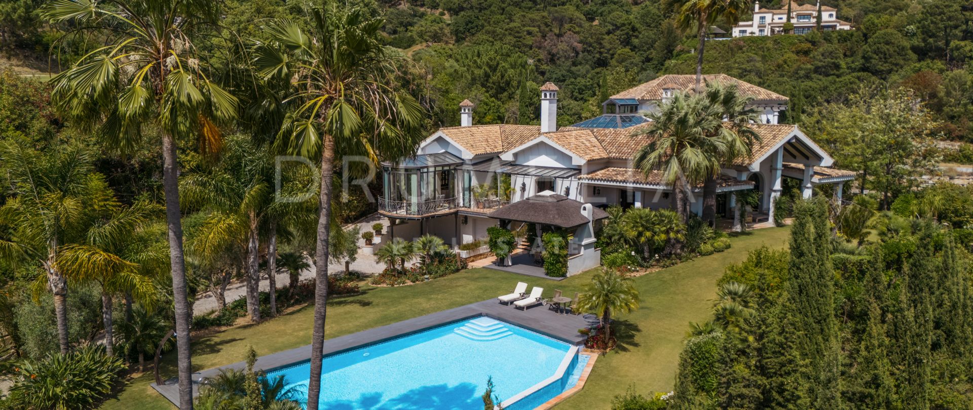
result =
[{"label": "dark thatched roof of the gazebo before the villa", "polygon": [[577,227],[608,218],[606,212],[592,207],[594,215],[589,220],[582,213],[584,205],[567,196],[547,190],[493,211],[489,217],[494,220],[529,222],[562,228]]}]

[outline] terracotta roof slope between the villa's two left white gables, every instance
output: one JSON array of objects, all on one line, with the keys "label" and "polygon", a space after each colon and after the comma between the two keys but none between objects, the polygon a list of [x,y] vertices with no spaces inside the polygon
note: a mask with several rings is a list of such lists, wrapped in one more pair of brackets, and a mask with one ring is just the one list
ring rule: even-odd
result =
[{"label": "terracotta roof slope between the villa's two left white gables", "polygon": [[439,130],[474,155],[502,153],[541,133],[539,125],[514,124],[450,126]]}]

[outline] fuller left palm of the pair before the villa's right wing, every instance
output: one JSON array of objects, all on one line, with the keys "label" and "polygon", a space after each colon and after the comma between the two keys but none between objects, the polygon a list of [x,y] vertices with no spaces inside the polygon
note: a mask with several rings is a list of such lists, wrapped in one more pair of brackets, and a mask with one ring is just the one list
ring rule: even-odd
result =
[{"label": "fuller left palm of the pair before the villa's right wing", "polygon": [[725,151],[725,139],[714,132],[723,126],[717,111],[702,95],[676,92],[658,110],[642,112],[651,121],[631,132],[632,137],[648,137],[649,141],[635,153],[635,167],[646,176],[662,171],[664,183],[675,194],[681,222],[686,221],[691,187],[720,166],[720,158],[709,153]]}]

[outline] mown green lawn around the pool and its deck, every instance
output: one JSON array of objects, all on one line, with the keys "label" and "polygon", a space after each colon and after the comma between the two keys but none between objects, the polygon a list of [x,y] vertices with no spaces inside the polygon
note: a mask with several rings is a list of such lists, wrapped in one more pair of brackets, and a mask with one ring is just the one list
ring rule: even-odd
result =
[{"label": "mown green lawn around the pool and its deck", "polygon": [[[672,389],[687,323],[708,316],[709,301],[723,267],[739,262],[761,245],[782,247],[787,228],[753,231],[731,240],[733,248],[635,279],[641,308],[618,318],[624,345],[600,359],[580,393],[559,409],[607,408],[611,397],[634,384],[640,393]],[[580,291],[592,273],[555,283],[491,269],[470,269],[420,285],[399,288],[364,287],[363,294],[336,298],[328,304],[327,337],[389,325],[417,316],[477,302],[510,291],[518,281],[566,294]],[[546,294],[547,295],[547,294]],[[546,296],[545,295],[545,296]],[[305,307],[261,325],[243,325],[193,341],[193,366],[201,370],[242,360],[248,347],[268,355],[310,343],[312,307]],[[163,358],[162,373],[175,374],[175,354]],[[149,384],[151,372],[131,381],[125,392],[101,408],[106,410],[172,410]]]}]

